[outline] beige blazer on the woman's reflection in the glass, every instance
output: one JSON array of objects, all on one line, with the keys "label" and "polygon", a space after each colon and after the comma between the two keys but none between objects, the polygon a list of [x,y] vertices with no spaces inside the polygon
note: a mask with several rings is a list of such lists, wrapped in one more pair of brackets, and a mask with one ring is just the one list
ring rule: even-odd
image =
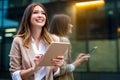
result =
[{"label": "beige blazer on the woman's reflection in the glass", "polygon": [[[68,42],[69,39],[66,37],[60,37],[60,42]],[[64,54],[65,64],[60,67],[60,76],[58,76],[55,80],[74,80],[73,73],[69,71],[68,64],[71,63],[71,47]]]}]

